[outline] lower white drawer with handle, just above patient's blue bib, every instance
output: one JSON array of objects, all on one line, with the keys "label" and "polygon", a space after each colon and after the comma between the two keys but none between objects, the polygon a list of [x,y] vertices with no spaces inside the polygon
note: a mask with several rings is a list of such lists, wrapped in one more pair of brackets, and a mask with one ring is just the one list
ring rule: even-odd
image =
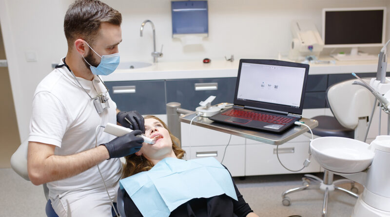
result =
[{"label": "lower white drawer with handle, just above patient's blue bib", "polygon": [[[226,145],[219,146],[203,146],[203,147],[183,147],[186,151],[185,159],[188,160],[188,156],[191,159],[215,157],[219,162],[222,161],[223,153]],[[232,176],[244,176],[245,172],[245,145],[232,145],[226,148],[225,158],[222,162],[225,165]]]}]

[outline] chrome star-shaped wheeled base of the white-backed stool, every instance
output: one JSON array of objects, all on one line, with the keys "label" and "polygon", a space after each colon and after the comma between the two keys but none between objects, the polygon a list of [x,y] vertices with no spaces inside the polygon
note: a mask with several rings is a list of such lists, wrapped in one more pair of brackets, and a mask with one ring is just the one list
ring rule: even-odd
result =
[{"label": "chrome star-shaped wheeled base of the white-backed stool", "polygon": [[[319,184],[311,184],[311,182],[317,182]],[[359,196],[352,191],[357,192],[358,189],[354,185],[354,181],[347,180],[347,179],[341,179],[337,181],[333,181],[333,173],[331,173],[328,170],[324,171],[324,180],[319,179],[316,176],[305,174],[302,178],[303,186],[289,189],[282,193],[282,203],[285,206],[289,206],[291,204],[291,199],[287,197],[286,195],[296,192],[296,191],[302,191],[302,190],[309,190],[309,189],[321,189],[324,191],[324,201],[322,205],[322,217],[326,217],[327,210],[328,210],[328,196],[329,192],[332,192],[334,190],[339,190],[344,193],[347,193],[351,195],[352,197],[358,198]],[[337,187],[336,185],[342,184],[342,183],[351,183],[351,191],[346,190],[344,188]]]}]

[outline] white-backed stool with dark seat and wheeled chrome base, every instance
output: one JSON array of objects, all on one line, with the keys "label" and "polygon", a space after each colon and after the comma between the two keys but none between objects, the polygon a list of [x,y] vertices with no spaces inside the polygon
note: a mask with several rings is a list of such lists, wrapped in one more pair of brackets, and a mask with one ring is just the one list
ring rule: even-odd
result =
[{"label": "white-backed stool with dark seat and wheeled chrome base", "polygon": [[[352,82],[355,80],[343,81],[328,88],[326,100],[334,117],[324,115],[312,117],[312,119],[318,121],[318,127],[312,129],[314,135],[320,137],[347,137],[364,141],[374,96],[366,88],[352,85]],[[283,205],[289,206],[291,204],[291,199],[286,196],[288,194],[319,188],[324,191],[322,217],[325,217],[329,192],[339,190],[358,198],[358,195],[352,192],[358,193],[353,181],[348,179],[333,181],[333,173],[326,169],[324,170],[324,178],[322,180],[311,174],[305,174],[302,182],[303,186],[292,188],[282,193]],[[351,191],[337,186],[342,183],[351,183]]]}]

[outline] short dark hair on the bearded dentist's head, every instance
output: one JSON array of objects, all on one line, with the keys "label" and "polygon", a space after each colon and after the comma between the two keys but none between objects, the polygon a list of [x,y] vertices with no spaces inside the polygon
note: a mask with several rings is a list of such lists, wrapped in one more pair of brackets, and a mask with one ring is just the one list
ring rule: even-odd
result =
[{"label": "short dark hair on the bearded dentist's head", "polygon": [[69,6],[64,19],[68,49],[78,38],[86,40],[92,46],[102,22],[120,26],[122,15],[99,0],[76,0]]}]

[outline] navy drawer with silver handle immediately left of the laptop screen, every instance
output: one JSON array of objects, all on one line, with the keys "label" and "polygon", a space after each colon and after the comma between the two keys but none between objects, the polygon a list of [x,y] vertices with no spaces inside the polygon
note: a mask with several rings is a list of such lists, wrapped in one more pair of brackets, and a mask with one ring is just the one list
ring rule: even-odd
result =
[{"label": "navy drawer with silver handle immediately left of the laptop screen", "polygon": [[200,101],[216,96],[213,105],[233,103],[237,78],[167,80],[167,102],[181,103],[181,108],[195,111]]}]

